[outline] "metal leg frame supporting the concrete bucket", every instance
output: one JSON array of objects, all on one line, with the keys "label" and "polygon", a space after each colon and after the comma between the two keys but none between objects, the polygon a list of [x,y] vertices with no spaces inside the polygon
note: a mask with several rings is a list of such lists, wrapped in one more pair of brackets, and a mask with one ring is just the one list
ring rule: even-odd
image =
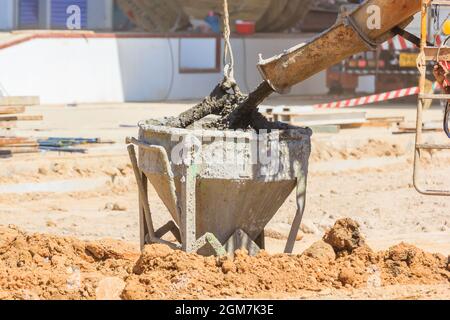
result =
[{"label": "metal leg frame supporting the concrete bucket", "polygon": [[[176,196],[174,174],[170,166],[167,151],[158,145],[150,145],[136,138],[127,138],[127,149],[133,167],[139,190],[139,224],[140,224],[140,245],[141,249],[147,244],[165,244],[176,250],[183,250],[188,253],[196,253],[201,248],[209,245],[216,256],[233,255],[237,249],[246,249],[249,254],[256,255],[261,249],[265,249],[264,231],[253,241],[244,230],[238,229],[230,239],[222,245],[217,237],[212,233],[197,235],[196,232],[196,182],[198,176],[198,165],[185,165],[183,167],[184,181],[181,184],[180,199]],[[158,230],[154,229],[150,202],[148,199],[148,178],[139,168],[135,146],[145,149],[146,152],[153,153],[163,164],[167,175],[171,196],[177,204],[177,215],[179,226],[171,219]],[[306,203],[307,178],[302,175],[301,170],[296,170],[296,204],[297,211],[291,224],[291,229],[286,242],[284,252],[291,254],[297,239],[297,235],[302,222]],[[163,240],[163,236],[172,233],[178,243]]]}]

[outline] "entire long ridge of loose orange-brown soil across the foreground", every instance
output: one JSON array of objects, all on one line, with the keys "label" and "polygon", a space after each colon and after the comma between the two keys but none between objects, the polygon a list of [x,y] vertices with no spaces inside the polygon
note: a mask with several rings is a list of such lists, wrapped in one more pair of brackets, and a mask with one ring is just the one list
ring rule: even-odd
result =
[{"label": "entire long ridge of loose orange-brown soil across the foreground", "polygon": [[317,242],[301,255],[262,251],[250,257],[237,251],[232,260],[163,245],[139,254],[118,241],[83,242],[0,227],[0,298],[270,298],[305,290],[449,285],[448,257],[404,243],[374,252],[358,235],[357,224],[344,219],[324,237],[331,244]]}]

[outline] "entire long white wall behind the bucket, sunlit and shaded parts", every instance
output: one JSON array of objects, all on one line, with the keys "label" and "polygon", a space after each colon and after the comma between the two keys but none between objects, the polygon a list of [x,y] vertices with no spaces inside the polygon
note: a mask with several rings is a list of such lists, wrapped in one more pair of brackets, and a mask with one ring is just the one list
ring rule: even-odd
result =
[{"label": "entire long white wall behind the bucket, sunlit and shaded parts", "polygon": [[[221,78],[180,73],[178,38],[34,39],[0,50],[0,83],[10,95],[39,95],[42,103],[200,99]],[[282,52],[301,39],[233,39],[236,78],[242,90],[261,82],[258,53]],[[291,94],[326,93],[325,73]]]}]

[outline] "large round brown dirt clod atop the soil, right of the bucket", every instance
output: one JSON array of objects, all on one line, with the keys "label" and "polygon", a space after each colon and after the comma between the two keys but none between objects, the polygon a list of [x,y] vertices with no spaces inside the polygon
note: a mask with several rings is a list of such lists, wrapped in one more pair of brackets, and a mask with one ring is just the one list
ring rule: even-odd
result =
[{"label": "large round brown dirt clod atop the soil, right of the bucket", "polygon": [[350,218],[336,221],[323,237],[323,241],[331,245],[336,254],[352,253],[356,248],[365,246],[358,222]]}]

